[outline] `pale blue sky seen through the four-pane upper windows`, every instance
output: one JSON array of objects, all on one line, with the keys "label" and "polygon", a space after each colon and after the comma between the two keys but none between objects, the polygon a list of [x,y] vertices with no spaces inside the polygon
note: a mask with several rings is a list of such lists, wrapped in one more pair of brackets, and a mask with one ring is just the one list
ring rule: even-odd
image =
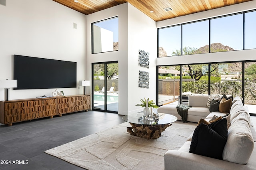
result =
[{"label": "pale blue sky seen through the four-pane upper windows", "polygon": [[[245,14],[245,49],[256,48],[256,12]],[[228,45],[235,50],[243,48],[243,14],[211,20],[211,42]],[[183,47],[200,48],[209,44],[209,20],[184,24]],[[164,47],[168,56],[180,50],[180,26],[159,30],[159,47]]]}]

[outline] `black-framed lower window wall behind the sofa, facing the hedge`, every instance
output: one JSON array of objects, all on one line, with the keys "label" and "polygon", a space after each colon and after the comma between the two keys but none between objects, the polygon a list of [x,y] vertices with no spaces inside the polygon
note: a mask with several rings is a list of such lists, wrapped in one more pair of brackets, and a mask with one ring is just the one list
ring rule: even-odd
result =
[{"label": "black-framed lower window wall behind the sofa, facing the hedge", "polygon": [[158,66],[157,105],[183,104],[191,93],[238,96],[255,114],[256,61]]}]

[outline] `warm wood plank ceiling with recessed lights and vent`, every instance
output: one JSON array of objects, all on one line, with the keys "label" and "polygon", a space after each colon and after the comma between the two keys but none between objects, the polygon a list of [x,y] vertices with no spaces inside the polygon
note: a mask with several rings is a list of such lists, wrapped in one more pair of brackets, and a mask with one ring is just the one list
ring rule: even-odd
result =
[{"label": "warm wood plank ceiling with recessed lights and vent", "polygon": [[[193,14],[251,0],[53,0],[88,15],[129,2],[155,21]],[[169,8],[166,12],[164,8]],[[171,10],[170,10],[171,9]],[[150,12],[154,11],[154,12]]]}]

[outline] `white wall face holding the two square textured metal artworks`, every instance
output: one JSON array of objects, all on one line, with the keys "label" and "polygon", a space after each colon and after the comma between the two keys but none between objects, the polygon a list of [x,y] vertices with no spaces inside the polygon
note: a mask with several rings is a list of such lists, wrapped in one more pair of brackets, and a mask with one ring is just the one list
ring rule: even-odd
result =
[{"label": "white wall face holding the two square textured metal artworks", "polygon": [[[138,52],[149,52],[149,69],[138,65]],[[128,4],[128,114],[142,111],[135,106],[144,97],[156,101],[156,22]],[[139,71],[149,72],[149,89],[138,87]]]}]

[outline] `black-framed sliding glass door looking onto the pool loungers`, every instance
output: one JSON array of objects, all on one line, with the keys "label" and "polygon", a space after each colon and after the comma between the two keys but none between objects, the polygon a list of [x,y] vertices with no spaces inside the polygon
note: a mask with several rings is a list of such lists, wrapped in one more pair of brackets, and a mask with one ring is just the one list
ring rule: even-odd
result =
[{"label": "black-framed sliding glass door looking onto the pool loungers", "polygon": [[92,64],[92,108],[97,111],[118,112],[118,62]]}]

